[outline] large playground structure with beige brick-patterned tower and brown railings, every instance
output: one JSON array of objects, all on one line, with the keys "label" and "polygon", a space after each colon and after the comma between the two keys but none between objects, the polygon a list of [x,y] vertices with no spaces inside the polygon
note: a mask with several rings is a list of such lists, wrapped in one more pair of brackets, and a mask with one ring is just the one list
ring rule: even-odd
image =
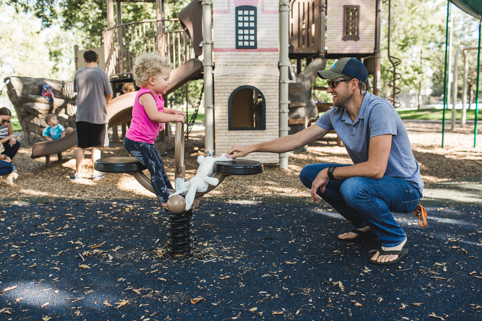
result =
[{"label": "large playground structure with beige brick-patterned tower and brown railings", "polygon": [[[290,109],[304,106],[289,101],[296,77],[290,59],[296,59],[298,73],[303,60],[363,59],[373,92],[379,93],[381,5],[381,0],[194,0],[178,19],[164,19],[164,1],[157,0],[156,20],[123,24],[122,2],[114,6],[107,0],[105,71],[116,92],[133,81],[132,61],[143,52],[167,55],[176,68],[202,60],[202,71],[192,79],[204,79],[204,149],[220,154],[234,143],[287,135],[289,124],[308,124],[309,119],[288,117]],[[288,165],[288,153],[252,157]]]}]

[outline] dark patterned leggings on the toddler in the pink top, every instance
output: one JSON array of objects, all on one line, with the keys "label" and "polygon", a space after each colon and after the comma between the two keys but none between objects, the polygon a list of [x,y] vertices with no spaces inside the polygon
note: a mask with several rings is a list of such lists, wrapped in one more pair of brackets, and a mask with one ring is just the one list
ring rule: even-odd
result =
[{"label": "dark patterned leggings on the toddler in the pink top", "polygon": [[156,191],[161,203],[166,203],[169,199],[169,191],[167,189],[172,190],[173,188],[164,170],[164,163],[156,146],[144,141],[134,141],[125,137],[124,147],[131,155],[136,157],[142,165],[147,167],[149,173],[151,173],[151,183],[154,191]]}]

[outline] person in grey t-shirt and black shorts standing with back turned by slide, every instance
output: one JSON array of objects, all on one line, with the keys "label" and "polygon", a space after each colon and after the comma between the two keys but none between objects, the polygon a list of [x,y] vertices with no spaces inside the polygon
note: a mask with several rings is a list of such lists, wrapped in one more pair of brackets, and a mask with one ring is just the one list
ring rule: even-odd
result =
[{"label": "person in grey t-shirt and black shorts standing with back turned by slide", "polygon": [[92,50],[84,52],[85,67],[75,72],[74,91],[77,92],[77,150],[76,169],[70,176],[71,181],[82,178],[80,170],[84,160],[85,148],[92,147],[92,180],[105,177],[95,171],[94,164],[100,158],[100,147],[108,146],[108,119],[106,104],[112,98],[112,88],[104,71],[97,68],[97,54]]}]

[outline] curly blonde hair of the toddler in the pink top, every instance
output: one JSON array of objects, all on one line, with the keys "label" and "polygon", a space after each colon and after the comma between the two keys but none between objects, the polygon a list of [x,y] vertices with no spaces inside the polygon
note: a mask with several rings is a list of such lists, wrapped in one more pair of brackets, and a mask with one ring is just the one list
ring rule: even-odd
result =
[{"label": "curly blonde hair of the toddler in the pink top", "polygon": [[134,60],[132,75],[138,87],[143,87],[154,76],[162,70],[172,70],[173,64],[169,57],[161,56],[157,52],[142,54]]}]

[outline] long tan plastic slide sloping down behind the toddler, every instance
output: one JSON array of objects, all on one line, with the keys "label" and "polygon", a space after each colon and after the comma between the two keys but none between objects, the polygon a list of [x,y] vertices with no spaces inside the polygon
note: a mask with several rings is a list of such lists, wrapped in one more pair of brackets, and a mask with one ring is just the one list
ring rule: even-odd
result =
[{"label": "long tan plastic slide sloping down behind the toddler", "polygon": [[[192,78],[202,72],[202,62],[197,59],[191,59],[185,64],[177,67],[171,72],[171,85],[166,95],[175,91]],[[127,123],[132,118],[132,106],[136,98],[137,91],[130,92],[115,97],[106,106],[107,118],[109,119],[109,128],[123,123]],[[50,155],[58,154],[61,159],[61,152],[74,147],[77,144],[77,131],[74,129],[65,137],[52,141],[37,142],[32,147],[31,158],[46,157],[46,166],[50,167]]]}]

